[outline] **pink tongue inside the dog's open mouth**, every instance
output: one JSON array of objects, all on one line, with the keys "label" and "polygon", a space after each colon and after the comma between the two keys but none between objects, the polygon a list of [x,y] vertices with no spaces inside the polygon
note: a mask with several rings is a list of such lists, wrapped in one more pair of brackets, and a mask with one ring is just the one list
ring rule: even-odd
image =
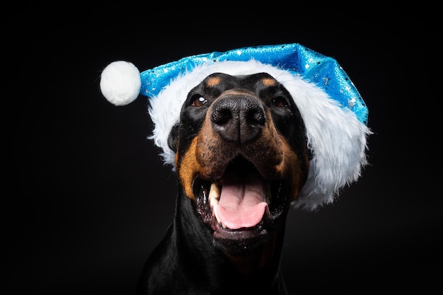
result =
[{"label": "pink tongue inside the dog's open mouth", "polygon": [[214,214],[219,216],[227,229],[257,225],[266,209],[263,185],[252,175],[229,175],[224,178],[219,204],[213,208]]}]

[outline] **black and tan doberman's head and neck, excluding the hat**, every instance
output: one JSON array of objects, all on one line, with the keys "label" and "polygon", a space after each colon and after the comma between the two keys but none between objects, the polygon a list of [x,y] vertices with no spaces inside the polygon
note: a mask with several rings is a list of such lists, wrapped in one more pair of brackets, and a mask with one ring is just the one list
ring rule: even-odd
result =
[{"label": "black and tan doberman's head and neck, excluding the hat", "polygon": [[211,74],[188,93],[168,145],[176,212],[138,294],[287,294],[285,221],[309,170],[287,89],[266,73]]}]

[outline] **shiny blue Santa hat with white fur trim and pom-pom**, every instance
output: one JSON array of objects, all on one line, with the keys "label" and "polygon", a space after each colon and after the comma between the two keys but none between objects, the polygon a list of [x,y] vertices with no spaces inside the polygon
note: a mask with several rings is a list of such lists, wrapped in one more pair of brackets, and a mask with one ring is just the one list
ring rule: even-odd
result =
[{"label": "shiny blue Santa hat with white fur trim and pom-pom", "polygon": [[338,62],[299,44],[244,47],[198,54],[139,72],[130,62],[103,69],[100,89],[115,105],[139,94],[150,100],[154,122],[150,139],[162,149],[165,163],[175,165],[168,134],[178,122],[188,92],[209,74],[233,76],[267,72],[287,88],[306,125],[313,158],[309,178],[294,207],[315,209],[332,203],[345,185],[355,182],[367,165],[368,110]]}]

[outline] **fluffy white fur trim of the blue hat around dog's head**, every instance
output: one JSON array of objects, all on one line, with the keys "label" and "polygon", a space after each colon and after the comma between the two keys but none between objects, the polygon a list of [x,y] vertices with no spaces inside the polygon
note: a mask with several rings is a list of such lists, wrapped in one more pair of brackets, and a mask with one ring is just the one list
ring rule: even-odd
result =
[{"label": "fluffy white fur trim of the blue hat around dog's head", "polygon": [[294,207],[315,209],[333,202],[344,185],[357,180],[367,164],[366,138],[371,132],[347,108],[341,108],[315,84],[293,76],[284,69],[255,60],[201,64],[178,76],[158,96],[151,98],[149,114],[155,124],[150,139],[159,146],[163,161],[174,166],[174,152],[168,147],[168,134],[178,122],[180,109],[188,92],[209,74],[231,75],[267,72],[282,83],[297,104],[304,124],[308,146],[313,151],[309,179]]}]

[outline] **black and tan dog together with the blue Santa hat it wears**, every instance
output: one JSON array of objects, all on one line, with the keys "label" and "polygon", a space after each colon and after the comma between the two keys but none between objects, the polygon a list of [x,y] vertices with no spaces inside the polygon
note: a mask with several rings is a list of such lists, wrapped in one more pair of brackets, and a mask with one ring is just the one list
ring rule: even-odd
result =
[{"label": "black and tan dog together with the blue Santa hat it wears", "polygon": [[367,165],[367,107],[338,63],[297,43],[113,62],[114,105],[149,97],[154,140],[178,177],[176,211],[137,294],[287,294],[289,208],[332,203]]}]

